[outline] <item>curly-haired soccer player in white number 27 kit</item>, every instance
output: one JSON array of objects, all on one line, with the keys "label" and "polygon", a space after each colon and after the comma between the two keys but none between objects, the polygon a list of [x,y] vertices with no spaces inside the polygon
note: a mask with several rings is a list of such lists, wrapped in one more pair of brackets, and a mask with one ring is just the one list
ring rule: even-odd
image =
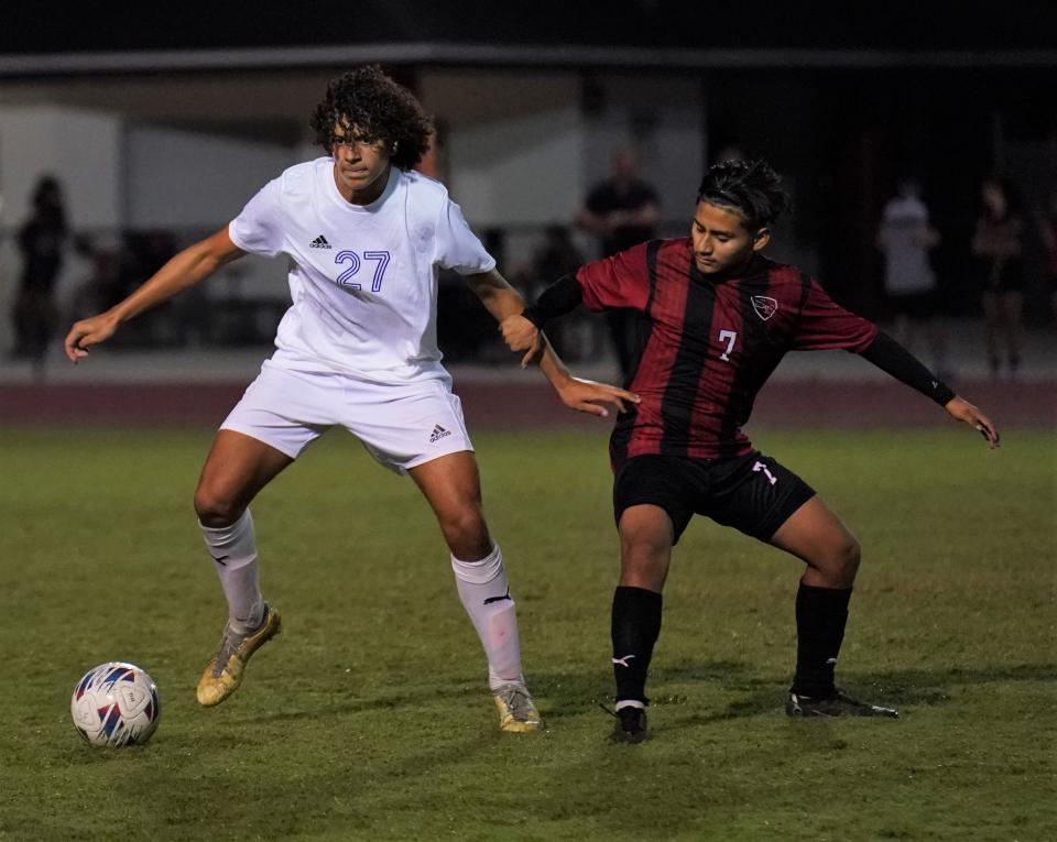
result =
[{"label": "curly-haired soccer player in white number 27 kit", "polygon": [[[502,553],[489,535],[461,405],[436,345],[438,271],[465,275],[499,321],[524,303],[445,187],[411,170],[428,149],[432,125],[410,91],[377,66],[359,68],[330,81],[312,127],[327,157],[285,171],[230,225],[174,256],[110,310],[76,322],[66,353],[77,362],[123,321],[246,253],[285,254],[293,305],[275,353],[221,424],[195,492],[228,601],[198,701],[227,699],[253,652],[281,627],[261,594],[250,501],[340,425],[426,496],[484,647],[500,728],[538,730]],[[636,400],[573,378],[549,349],[540,365],[571,408],[606,415],[602,404],[623,408]]]}]

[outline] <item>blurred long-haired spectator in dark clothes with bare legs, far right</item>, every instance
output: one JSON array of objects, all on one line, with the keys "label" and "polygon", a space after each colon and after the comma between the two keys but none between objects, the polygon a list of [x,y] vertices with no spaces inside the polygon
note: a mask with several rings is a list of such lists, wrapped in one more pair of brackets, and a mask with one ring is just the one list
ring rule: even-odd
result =
[{"label": "blurred long-haired spectator in dark clothes with bare legs, far right", "polygon": [[980,187],[980,216],[972,237],[972,253],[983,287],[987,320],[988,362],[992,375],[1002,365],[999,337],[1005,339],[1010,375],[1021,364],[1021,308],[1024,304],[1024,222],[1016,196],[1000,178],[988,178]]}]

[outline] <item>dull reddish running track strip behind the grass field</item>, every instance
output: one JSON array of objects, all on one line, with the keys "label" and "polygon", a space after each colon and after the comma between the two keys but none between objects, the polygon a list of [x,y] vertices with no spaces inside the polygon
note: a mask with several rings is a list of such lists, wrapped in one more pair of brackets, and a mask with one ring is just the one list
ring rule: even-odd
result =
[{"label": "dull reddish running track strip behind the grass field", "polygon": [[[20,427],[216,427],[242,395],[242,383],[0,385],[0,425]],[[546,383],[456,381],[470,431],[596,429],[611,420],[564,407]],[[1057,382],[959,384],[959,394],[999,426],[1050,428],[1057,420]],[[787,381],[771,383],[756,401],[750,429],[836,427],[871,429],[941,426],[942,409],[900,383]]]}]

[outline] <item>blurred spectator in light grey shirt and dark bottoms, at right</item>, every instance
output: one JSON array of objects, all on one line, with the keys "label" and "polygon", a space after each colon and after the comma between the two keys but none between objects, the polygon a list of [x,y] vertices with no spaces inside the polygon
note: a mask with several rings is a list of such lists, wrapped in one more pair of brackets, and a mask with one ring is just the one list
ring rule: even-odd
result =
[{"label": "blurred spectator in light grey shirt and dark bottoms, at right", "polygon": [[884,253],[884,292],[895,318],[895,339],[913,349],[924,332],[933,353],[933,369],[948,379],[946,341],[937,318],[938,291],[929,252],[939,244],[939,233],[929,223],[928,208],[913,178],[900,182],[896,195],[884,206],[876,244]]}]

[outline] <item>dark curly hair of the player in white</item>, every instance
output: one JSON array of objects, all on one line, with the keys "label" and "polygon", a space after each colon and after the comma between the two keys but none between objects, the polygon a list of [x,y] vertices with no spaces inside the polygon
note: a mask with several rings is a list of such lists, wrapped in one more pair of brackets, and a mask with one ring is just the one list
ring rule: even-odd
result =
[{"label": "dark curly hair of the player in white", "polygon": [[433,121],[407,88],[386,76],[377,65],[367,65],[330,79],[327,95],[316,106],[308,123],[316,143],[331,154],[336,125],[366,141],[385,141],[395,152],[394,166],[410,170],[429,149]]}]

